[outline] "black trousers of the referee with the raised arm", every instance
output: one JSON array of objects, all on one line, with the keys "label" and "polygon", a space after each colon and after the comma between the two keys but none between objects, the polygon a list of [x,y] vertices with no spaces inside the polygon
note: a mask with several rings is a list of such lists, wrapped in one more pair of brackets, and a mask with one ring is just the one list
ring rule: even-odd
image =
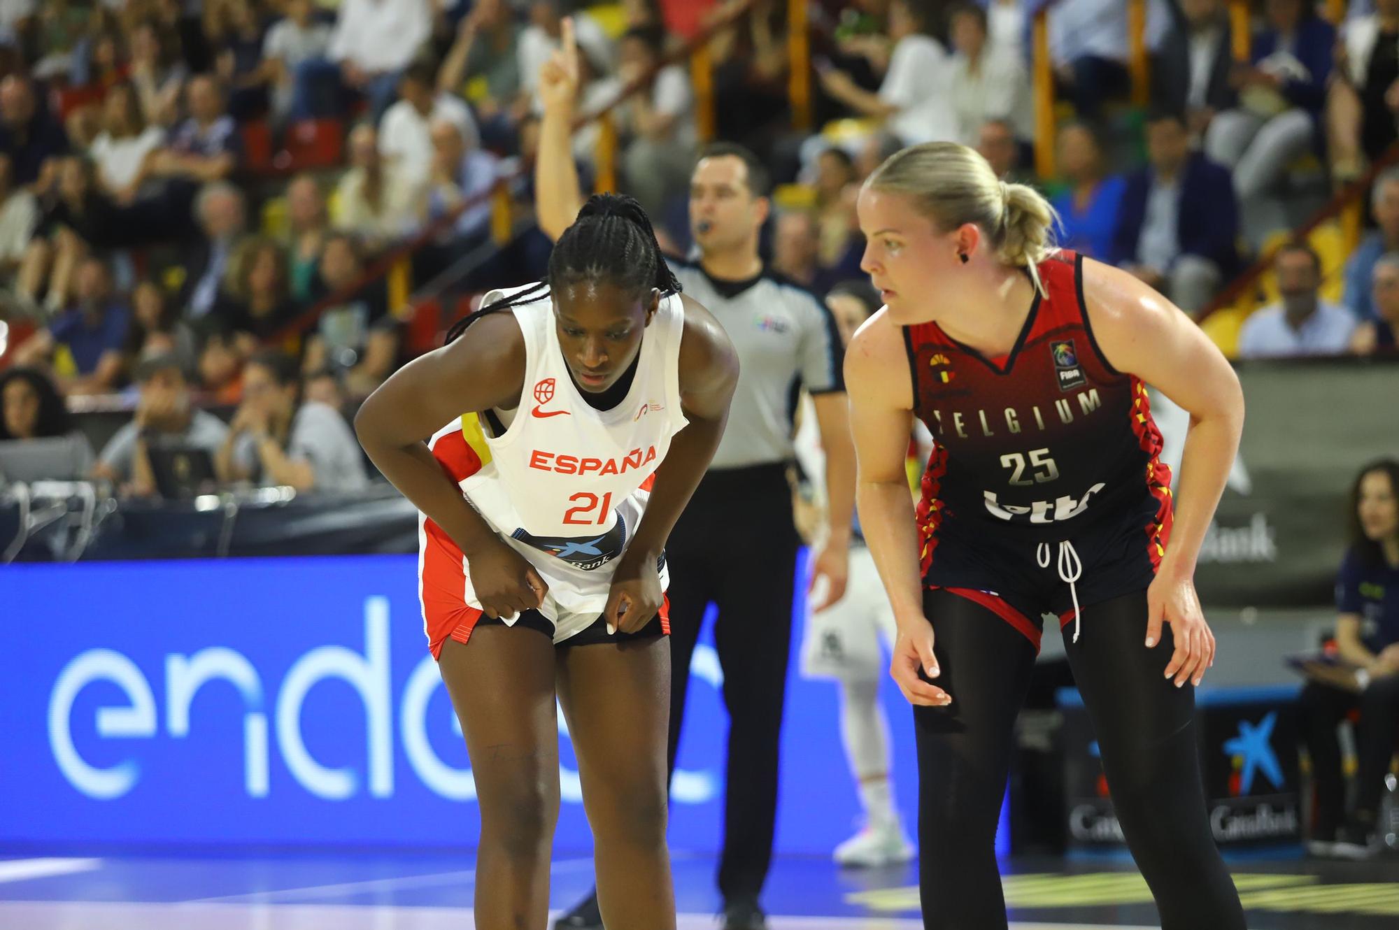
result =
[{"label": "black trousers of the referee with the raised arm", "polygon": [[778,741],[799,540],[782,464],[705,474],[666,545],[670,562],[670,769],[690,684],[690,657],[709,603],[729,712],[719,892],[757,899],[772,860]]}]

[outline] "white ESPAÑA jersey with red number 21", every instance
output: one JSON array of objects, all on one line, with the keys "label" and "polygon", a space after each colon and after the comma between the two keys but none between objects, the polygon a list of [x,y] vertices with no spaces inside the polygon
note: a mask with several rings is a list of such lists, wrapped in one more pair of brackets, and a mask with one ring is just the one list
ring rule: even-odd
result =
[{"label": "white ESPA\u00d1A jersey with red number 21", "polygon": [[[492,291],[483,302],[512,292]],[[470,460],[449,473],[463,475],[466,499],[548,583],[539,610],[554,621],[558,642],[607,606],[617,558],[645,513],[651,477],[687,424],[680,408],[684,306],[679,295],[660,301],[631,389],[611,410],[590,407],[574,385],[548,296],[511,310],[525,337],[525,390],[513,411],[487,417],[504,432],[491,435],[477,414],[464,414],[439,429],[429,448],[443,464],[453,449]],[[420,538],[427,547],[427,534]],[[659,571],[665,589],[663,559]],[[480,608],[470,571],[462,575],[464,603]]]}]

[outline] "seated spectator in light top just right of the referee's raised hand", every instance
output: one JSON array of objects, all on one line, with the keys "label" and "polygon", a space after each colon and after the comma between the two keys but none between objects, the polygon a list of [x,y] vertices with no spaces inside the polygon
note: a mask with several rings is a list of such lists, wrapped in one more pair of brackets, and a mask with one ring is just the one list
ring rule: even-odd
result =
[{"label": "seated spectator in light top just right of the referee's raised hand", "polygon": [[[639,80],[660,62],[666,34],[660,27],[635,27],[621,41],[617,76],[623,84]],[[627,138],[623,171],[627,190],[652,217],[666,197],[684,190],[695,158],[694,92],[679,64],[656,71],[651,88],[632,95],[620,110]]]}]

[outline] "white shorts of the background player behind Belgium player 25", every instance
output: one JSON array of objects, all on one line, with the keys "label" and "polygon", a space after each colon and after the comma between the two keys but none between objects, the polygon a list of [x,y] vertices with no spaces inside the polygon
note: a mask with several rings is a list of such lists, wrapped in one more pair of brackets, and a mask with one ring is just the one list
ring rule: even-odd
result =
[{"label": "white shorts of the background player behind Belgium player 25", "polygon": [[[810,603],[820,603],[824,582],[811,592]],[[845,597],[820,614],[806,613],[802,635],[803,678],[879,680],[886,660],[879,641],[891,649],[897,625],[888,594],[874,568],[874,557],[863,545],[851,547],[851,576]]]}]

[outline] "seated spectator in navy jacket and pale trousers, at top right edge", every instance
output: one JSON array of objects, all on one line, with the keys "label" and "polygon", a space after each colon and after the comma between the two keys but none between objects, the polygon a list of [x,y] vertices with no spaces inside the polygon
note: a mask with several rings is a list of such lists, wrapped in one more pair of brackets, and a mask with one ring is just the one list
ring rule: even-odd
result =
[{"label": "seated spectator in navy jacket and pale trousers, at top right edge", "polygon": [[1238,105],[1216,116],[1205,136],[1205,152],[1234,169],[1245,207],[1321,138],[1336,45],[1336,29],[1302,0],[1267,0],[1266,8],[1251,63],[1230,74]]}]

